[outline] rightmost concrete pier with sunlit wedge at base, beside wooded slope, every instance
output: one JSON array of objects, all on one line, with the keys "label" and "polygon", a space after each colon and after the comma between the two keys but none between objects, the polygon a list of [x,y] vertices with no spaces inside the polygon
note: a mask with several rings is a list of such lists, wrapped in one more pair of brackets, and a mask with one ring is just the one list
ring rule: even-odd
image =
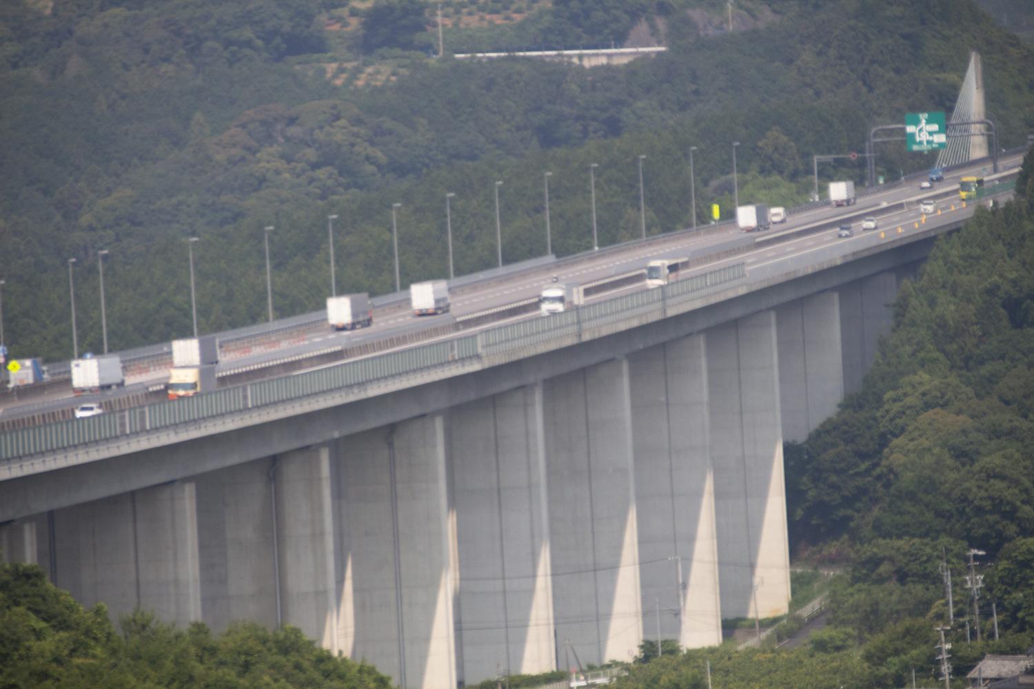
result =
[{"label": "rightmost concrete pier with sunlit wedge at base, beside wooded slope", "polygon": [[790,563],[774,312],[708,331],[707,377],[722,615],[780,615]]}]

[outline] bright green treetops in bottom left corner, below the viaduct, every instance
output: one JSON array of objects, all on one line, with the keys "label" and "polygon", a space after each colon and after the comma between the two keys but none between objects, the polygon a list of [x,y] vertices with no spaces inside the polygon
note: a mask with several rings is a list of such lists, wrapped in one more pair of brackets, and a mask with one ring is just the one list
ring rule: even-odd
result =
[{"label": "bright green treetops in bottom left corner, below the viaduct", "polygon": [[83,607],[35,565],[0,565],[0,686],[390,689],[373,667],[335,658],[295,627],[240,624],[213,634],[136,612],[121,633],[103,605]]}]

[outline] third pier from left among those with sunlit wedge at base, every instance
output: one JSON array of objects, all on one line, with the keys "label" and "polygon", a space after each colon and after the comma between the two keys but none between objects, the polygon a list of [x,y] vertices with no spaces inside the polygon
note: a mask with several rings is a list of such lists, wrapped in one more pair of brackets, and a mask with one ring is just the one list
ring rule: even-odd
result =
[{"label": "third pier from left among those with sunlit wedge at base", "polygon": [[459,679],[552,670],[542,386],[457,407],[449,421]]}]

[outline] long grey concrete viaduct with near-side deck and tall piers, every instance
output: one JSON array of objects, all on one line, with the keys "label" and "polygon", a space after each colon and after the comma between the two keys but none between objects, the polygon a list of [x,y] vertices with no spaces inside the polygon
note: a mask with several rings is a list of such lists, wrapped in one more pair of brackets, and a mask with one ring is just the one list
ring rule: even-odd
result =
[{"label": "long grey concrete viaduct with near-side deck and tall piers", "polygon": [[297,625],[407,688],[553,669],[569,643],[628,660],[658,618],[719,644],[723,618],[787,612],[783,441],[860,387],[901,279],[973,211],[896,193],[850,211],[896,214],[879,231],[826,218],[661,288],[7,460],[3,557],[113,614]]}]

